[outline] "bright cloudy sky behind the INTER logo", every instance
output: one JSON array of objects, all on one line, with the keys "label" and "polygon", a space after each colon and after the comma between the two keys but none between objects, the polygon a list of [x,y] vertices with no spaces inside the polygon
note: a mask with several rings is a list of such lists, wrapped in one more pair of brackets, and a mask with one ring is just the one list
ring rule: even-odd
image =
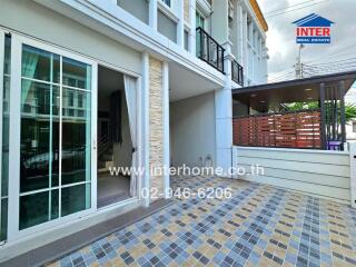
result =
[{"label": "bright cloudy sky behind the INTER logo", "polygon": [[[353,59],[356,69],[356,0],[257,0],[268,22],[267,48],[269,55],[269,81],[294,78],[298,44],[296,27],[291,23],[310,13],[317,13],[335,22],[330,44],[306,44],[301,62],[335,70],[345,68],[335,61]],[[278,11],[276,11],[278,10]],[[283,13],[283,14],[280,14]],[[277,14],[277,16],[274,16]],[[350,61],[347,61],[350,62]],[[349,65],[348,65],[349,66]],[[308,70],[310,73],[313,70]],[[356,85],[354,85],[356,91]],[[355,92],[356,100],[356,92]]]}]

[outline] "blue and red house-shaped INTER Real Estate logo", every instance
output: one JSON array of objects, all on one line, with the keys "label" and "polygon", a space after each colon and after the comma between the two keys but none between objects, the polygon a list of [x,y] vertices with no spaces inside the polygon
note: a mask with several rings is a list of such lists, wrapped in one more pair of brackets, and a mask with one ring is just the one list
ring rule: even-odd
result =
[{"label": "blue and red house-shaped INTER Real Estate logo", "polygon": [[297,26],[297,43],[330,43],[335,22],[312,13],[293,22]]}]

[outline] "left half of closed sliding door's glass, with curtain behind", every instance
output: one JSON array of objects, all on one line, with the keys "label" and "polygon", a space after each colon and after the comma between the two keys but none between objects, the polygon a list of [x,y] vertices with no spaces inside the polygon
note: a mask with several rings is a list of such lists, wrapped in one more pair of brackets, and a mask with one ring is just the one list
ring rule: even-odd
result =
[{"label": "left half of closed sliding door's glass, with curtain behind", "polygon": [[20,230],[59,214],[59,62],[58,55],[22,46]]}]

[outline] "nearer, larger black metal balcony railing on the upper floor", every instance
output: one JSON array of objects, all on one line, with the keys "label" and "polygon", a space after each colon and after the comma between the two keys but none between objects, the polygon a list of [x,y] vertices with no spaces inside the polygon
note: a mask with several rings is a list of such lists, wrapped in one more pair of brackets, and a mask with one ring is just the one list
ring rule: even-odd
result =
[{"label": "nearer, larger black metal balcony railing on the upper floor", "polygon": [[225,49],[201,27],[197,28],[197,57],[220,72],[224,70]]}]

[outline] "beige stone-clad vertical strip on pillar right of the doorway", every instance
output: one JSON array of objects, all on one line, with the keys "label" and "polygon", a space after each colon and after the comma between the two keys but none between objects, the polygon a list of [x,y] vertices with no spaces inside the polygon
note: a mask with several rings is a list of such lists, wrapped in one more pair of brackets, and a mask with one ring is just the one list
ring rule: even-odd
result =
[{"label": "beige stone-clad vertical strip on pillar right of the doorway", "polygon": [[[164,167],[164,65],[149,59],[149,167]],[[150,188],[164,192],[164,176],[150,175]],[[156,196],[157,197],[157,196]]]}]

